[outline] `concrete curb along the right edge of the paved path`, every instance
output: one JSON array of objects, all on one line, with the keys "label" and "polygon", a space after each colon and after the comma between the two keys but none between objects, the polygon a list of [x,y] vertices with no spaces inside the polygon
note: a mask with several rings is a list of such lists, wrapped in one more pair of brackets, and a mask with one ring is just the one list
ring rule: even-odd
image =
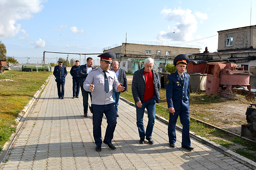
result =
[{"label": "concrete curb along the right edge of the paved path", "polygon": [[[132,105],[132,106],[136,107],[135,103],[130,102],[127,99],[125,99],[125,98],[123,98],[121,96],[120,96],[120,99],[122,99],[123,101],[127,102],[129,105]],[[145,109],[145,112],[148,113],[146,109]],[[158,114],[156,114],[156,118],[159,119],[160,121],[166,123],[166,124],[169,123],[168,120],[166,120],[162,116],[159,116]],[[180,125],[176,125],[176,129],[182,131],[182,127]],[[227,156],[230,156],[231,158],[235,159],[236,161],[241,162],[242,164],[246,165],[247,167],[250,167],[253,170],[256,170],[256,162],[254,162],[254,161],[252,161],[250,159],[247,159],[244,156],[241,156],[238,153],[235,153],[232,150],[227,149],[226,147],[223,147],[223,146],[221,146],[219,144],[216,144],[215,142],[212,142],[209,139],[206,139],[206,138],[203,138],[201,136],[195,135],[194,132],[190,131],[189,133],[190,133],[190,136],[192,136],[192,138],[195,138],[198,141],[200,141],[202,143],[205,143],[208,146],[218,150],[219,152],[221,152],[221,153],[223,153],[223,154],[225,154]]]}]

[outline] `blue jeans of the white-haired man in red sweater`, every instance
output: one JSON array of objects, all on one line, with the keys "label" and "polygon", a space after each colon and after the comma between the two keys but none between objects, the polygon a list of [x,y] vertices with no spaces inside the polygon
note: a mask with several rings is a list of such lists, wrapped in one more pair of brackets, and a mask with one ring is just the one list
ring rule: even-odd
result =
[{"label": "blue jeans of the white-haired man in red sweater", "polygon": [[[143,116],[145,108],[148,111],[148,125],[146,128],[146,132],[143,125]],[[136,114],[137,114],[137,127],[139,130],[140,138],[151,138],[153,127],[154,127],[154,120],[156,118],[156,101],[154,97],[146,102],[142,102],[142,107],[139,108],[136,106]]]}]

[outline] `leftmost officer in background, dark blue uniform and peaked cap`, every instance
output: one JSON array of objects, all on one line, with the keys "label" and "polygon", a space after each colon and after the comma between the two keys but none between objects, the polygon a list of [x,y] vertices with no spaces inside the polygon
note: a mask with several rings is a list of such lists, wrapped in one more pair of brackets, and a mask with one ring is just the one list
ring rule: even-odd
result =
[{"label": "leftmost officer in background, dark blue uniform and peaked cap", "polygon": [[59,60],[58,65],[54,67],[54,71],[53,71],[53,75],[56,78],[55,82],[57,82],[59,99],[64,99],[65,77],[67,76],[67,69],[62,64],[63,64],[63,61]]}]

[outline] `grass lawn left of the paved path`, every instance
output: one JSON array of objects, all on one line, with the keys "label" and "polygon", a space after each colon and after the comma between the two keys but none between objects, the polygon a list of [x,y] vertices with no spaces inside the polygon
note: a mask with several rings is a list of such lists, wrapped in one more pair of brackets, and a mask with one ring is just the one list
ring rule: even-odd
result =
[{"label": "grass lawn left of the paved path", "polygon": [[5,71],[0,74],[0,150],[16,131],[18,114],[52,72]]}]

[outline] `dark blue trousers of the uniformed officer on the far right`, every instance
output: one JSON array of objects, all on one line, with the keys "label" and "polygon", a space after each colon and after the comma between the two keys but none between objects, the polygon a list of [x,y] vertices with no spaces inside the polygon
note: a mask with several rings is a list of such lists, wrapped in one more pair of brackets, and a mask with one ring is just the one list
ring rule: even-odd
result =
[{"label": "dark blue trousers of the uniformed officer on the far right", "polygon": [[172,113],[169,113],[169,124],[168,124],[169,143],[176,142],[175,126],[176,126],[178,116],[180,116],[180,123],[183,126],[181,146],[190,146],[191,141],[189,136],[189,129],[190,129],[189,109],[182,110],[182,111],[175,110],[174,115]]}]

